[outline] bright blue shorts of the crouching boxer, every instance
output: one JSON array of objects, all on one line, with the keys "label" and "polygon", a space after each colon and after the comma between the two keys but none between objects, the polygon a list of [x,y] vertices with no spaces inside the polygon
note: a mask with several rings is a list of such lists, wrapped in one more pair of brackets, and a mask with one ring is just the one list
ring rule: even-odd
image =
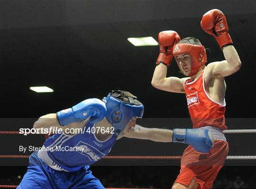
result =
[{"label": "bright blue shorts of the crouching boxer", "polygon": [[89,165],[79,171],[65,172],[50,168],[34,152],[17,189],[104,189],[100,180],[89,171]]}]

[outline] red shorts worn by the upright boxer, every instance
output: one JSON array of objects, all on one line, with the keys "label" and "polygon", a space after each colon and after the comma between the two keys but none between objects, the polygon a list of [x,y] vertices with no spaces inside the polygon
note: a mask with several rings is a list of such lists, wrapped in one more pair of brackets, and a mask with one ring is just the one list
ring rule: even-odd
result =
[{"label": "red shorts worn by the upright boxer", "polygon": [[187,147],[182,156],[180,174],[174,183],[188,187],[195,179],[199,183],[197,189],[211,189],[228,153],[229,143],[224,140],[215,140],[209,153],[200,153],[192,146]]}]

